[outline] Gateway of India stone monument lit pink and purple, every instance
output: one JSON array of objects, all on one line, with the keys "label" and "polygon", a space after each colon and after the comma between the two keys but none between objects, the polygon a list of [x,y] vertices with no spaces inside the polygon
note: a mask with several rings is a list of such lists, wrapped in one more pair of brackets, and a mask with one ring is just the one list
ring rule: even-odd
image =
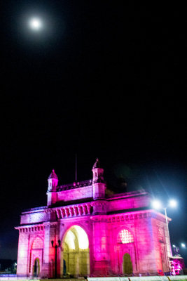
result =
[{"label": "Gateway of India stone monument lit pink and purple", "polygon": [[[18,275],[106,276],[169,271],[165,216],[145,190],[114,194],[99,160],[92,179],[58,185],[48,177],[47,206],[23,211]],[[170,218],[167,218],[170,221]]]}]

